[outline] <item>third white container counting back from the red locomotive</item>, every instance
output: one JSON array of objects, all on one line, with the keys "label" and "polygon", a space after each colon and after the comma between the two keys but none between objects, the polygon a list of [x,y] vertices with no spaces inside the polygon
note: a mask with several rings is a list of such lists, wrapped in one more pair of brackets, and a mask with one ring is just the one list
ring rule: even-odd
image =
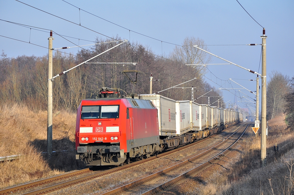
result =
[{"label": "third white container counting back from the red locomotive", "polygon": [[190,101],[190,121],[192,131],[201,131],[201,105]]}]

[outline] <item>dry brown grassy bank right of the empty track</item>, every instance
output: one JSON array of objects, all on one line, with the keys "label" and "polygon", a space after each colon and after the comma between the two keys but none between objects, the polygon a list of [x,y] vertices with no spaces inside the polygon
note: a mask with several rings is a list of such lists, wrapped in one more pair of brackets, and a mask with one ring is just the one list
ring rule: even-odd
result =
[{"label": "dry brown grassy bank right of the empty track", "polygon": [[240,162],[203,187],[201,194],[294,194],[293,129],[285,124],[285,116],[269,120],[268,127],[267,166],[260,168],[260,139],[252,133]]}]

